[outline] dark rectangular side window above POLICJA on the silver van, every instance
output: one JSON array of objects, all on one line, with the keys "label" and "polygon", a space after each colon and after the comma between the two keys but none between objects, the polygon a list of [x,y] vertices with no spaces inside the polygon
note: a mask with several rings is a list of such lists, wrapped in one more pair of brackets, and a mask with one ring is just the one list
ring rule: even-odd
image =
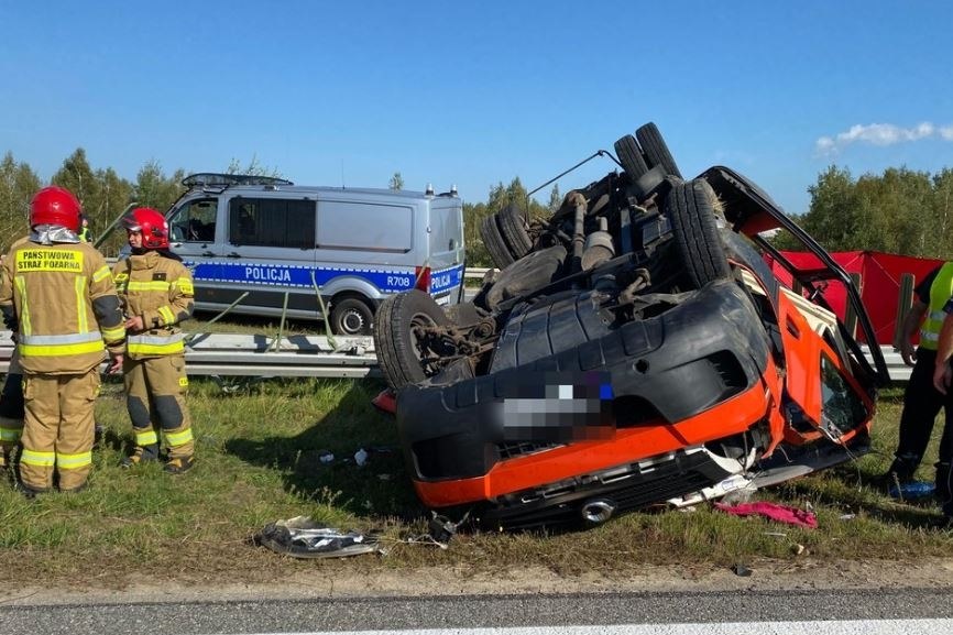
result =
[{"label": "dark rectangular side window above POLICJA on the silver van", "polygon": [[229,242],[234,245],[315,248],[315,201],[233,198]]}]

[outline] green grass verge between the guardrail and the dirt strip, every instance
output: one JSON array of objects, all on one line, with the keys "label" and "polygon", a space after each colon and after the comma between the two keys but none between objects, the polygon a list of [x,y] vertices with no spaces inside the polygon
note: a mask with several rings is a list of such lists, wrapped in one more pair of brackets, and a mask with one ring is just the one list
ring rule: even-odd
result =
[{"label": "green grass verge between the guardrail and the dirt strip", "polygon": [[[953,535],[930,528],[938,518],[932,503],[898,503],[867,484],[889,464],[901,402],[897,390],[881,398],[874,452],[756,494],[801,508],[810,504],[818,529],[738,518],[703,504],[693,512],[627,514],[587,532],[470,533],[441,550],[410,541],[426,533],[427,512],[404,469],[393,419],[370,405],[381,388],[370,380],[267,380],[226,394],[210,380],[194,379],[188,401],[198,462],[189,473],[171,477],[157,464],[118,467],[132,435],[122,385],[110,380],[97,402],[106,435],[87,491],[29,502],[0,484],[0,570],[11,584],[43,579],[121,587],[143,577],[273,581],[314,567],[452,566],[475,573],[505,563],[611,574],[644,565],[762,558],[953,556]],[[373,450],[363,467],[351,460],[361,447]],[[325,452],[336,460],[324,463]],[[932,460],[924,461],[923,478]],[[380,535],[387,555],[292,560],[255,546],[265,524],[298,515]]]}]

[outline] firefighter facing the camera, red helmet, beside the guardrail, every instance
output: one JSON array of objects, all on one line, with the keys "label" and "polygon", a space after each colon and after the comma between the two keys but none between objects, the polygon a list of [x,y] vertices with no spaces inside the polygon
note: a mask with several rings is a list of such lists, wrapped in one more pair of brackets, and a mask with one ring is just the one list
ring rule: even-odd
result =
[{"label": "firefighter facing the camera, red helmet, beside the guardrail", "polygon": [[135,448],[122,460],[132,468],[158,459],[158,435],[168,451],[163,470],[179,474],[195,463],[195,442],[185,393],[185,344],[179,322],[191,316],[193,285],[182,259],[168,251],[168,223],[140,207],[122,225],[132,255],[112,270],[127,316],[123,375]]}]

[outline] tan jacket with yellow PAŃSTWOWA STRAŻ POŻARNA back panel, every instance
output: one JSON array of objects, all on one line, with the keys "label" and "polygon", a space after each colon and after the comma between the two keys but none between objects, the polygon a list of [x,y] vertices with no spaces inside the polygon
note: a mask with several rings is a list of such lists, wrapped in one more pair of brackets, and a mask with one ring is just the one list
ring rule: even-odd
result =
[{"label": "tan jacket with yellow PA\u0143STWOWA STRA\u017b PO\u017bARNA back panel", "polygon": [[3,259],[0,310],[28,373],[85,373],[107,347],[122,353],[119,297],[106,259],[90,244],[14,244]]}]

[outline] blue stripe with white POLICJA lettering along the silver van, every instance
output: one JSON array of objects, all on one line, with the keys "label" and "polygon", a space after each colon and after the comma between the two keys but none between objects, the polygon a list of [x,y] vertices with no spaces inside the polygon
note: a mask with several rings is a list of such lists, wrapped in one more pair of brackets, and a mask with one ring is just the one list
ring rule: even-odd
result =
[{"label": "blue stripe with white POLICJA lettering along the silver van", "polygon": [[[315,273],[314,284],[322,286],[341,275],[360,277],[382,293],[393,293],[414,288],[416,277],[414,272],[379,271],[348,267],[309,267],[289,266],[283,264],[235,264],[226,262],[185,262],[191,270],[196,283],[224,282],[250,283],[266,286],[314,288],[311,272]],[[431,273],[430,293],[441,293],[459,286],[463,280],[463,265]]]}]

